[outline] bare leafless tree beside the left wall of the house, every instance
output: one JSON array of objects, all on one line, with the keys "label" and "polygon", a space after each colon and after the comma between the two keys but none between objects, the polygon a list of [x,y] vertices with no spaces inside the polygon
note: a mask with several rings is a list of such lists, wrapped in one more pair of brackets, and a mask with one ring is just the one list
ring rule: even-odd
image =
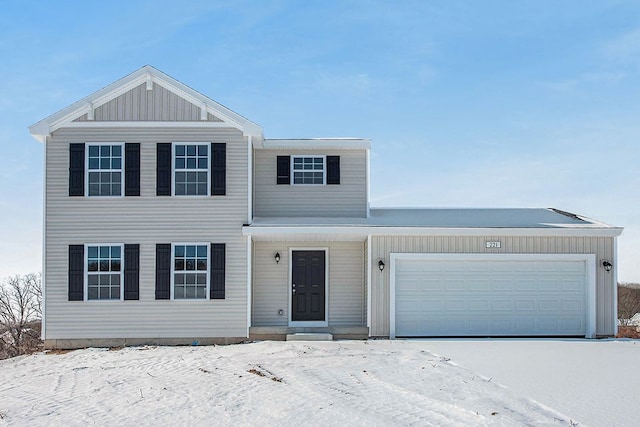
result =
[{"label": "bare leafless tree beside the left wall of the house", "polygon": [[[0,359],[40,346],[42,280],[39,273],[8,277],[0,284]],[[4,354],[3,354],[4,353]]]}]

